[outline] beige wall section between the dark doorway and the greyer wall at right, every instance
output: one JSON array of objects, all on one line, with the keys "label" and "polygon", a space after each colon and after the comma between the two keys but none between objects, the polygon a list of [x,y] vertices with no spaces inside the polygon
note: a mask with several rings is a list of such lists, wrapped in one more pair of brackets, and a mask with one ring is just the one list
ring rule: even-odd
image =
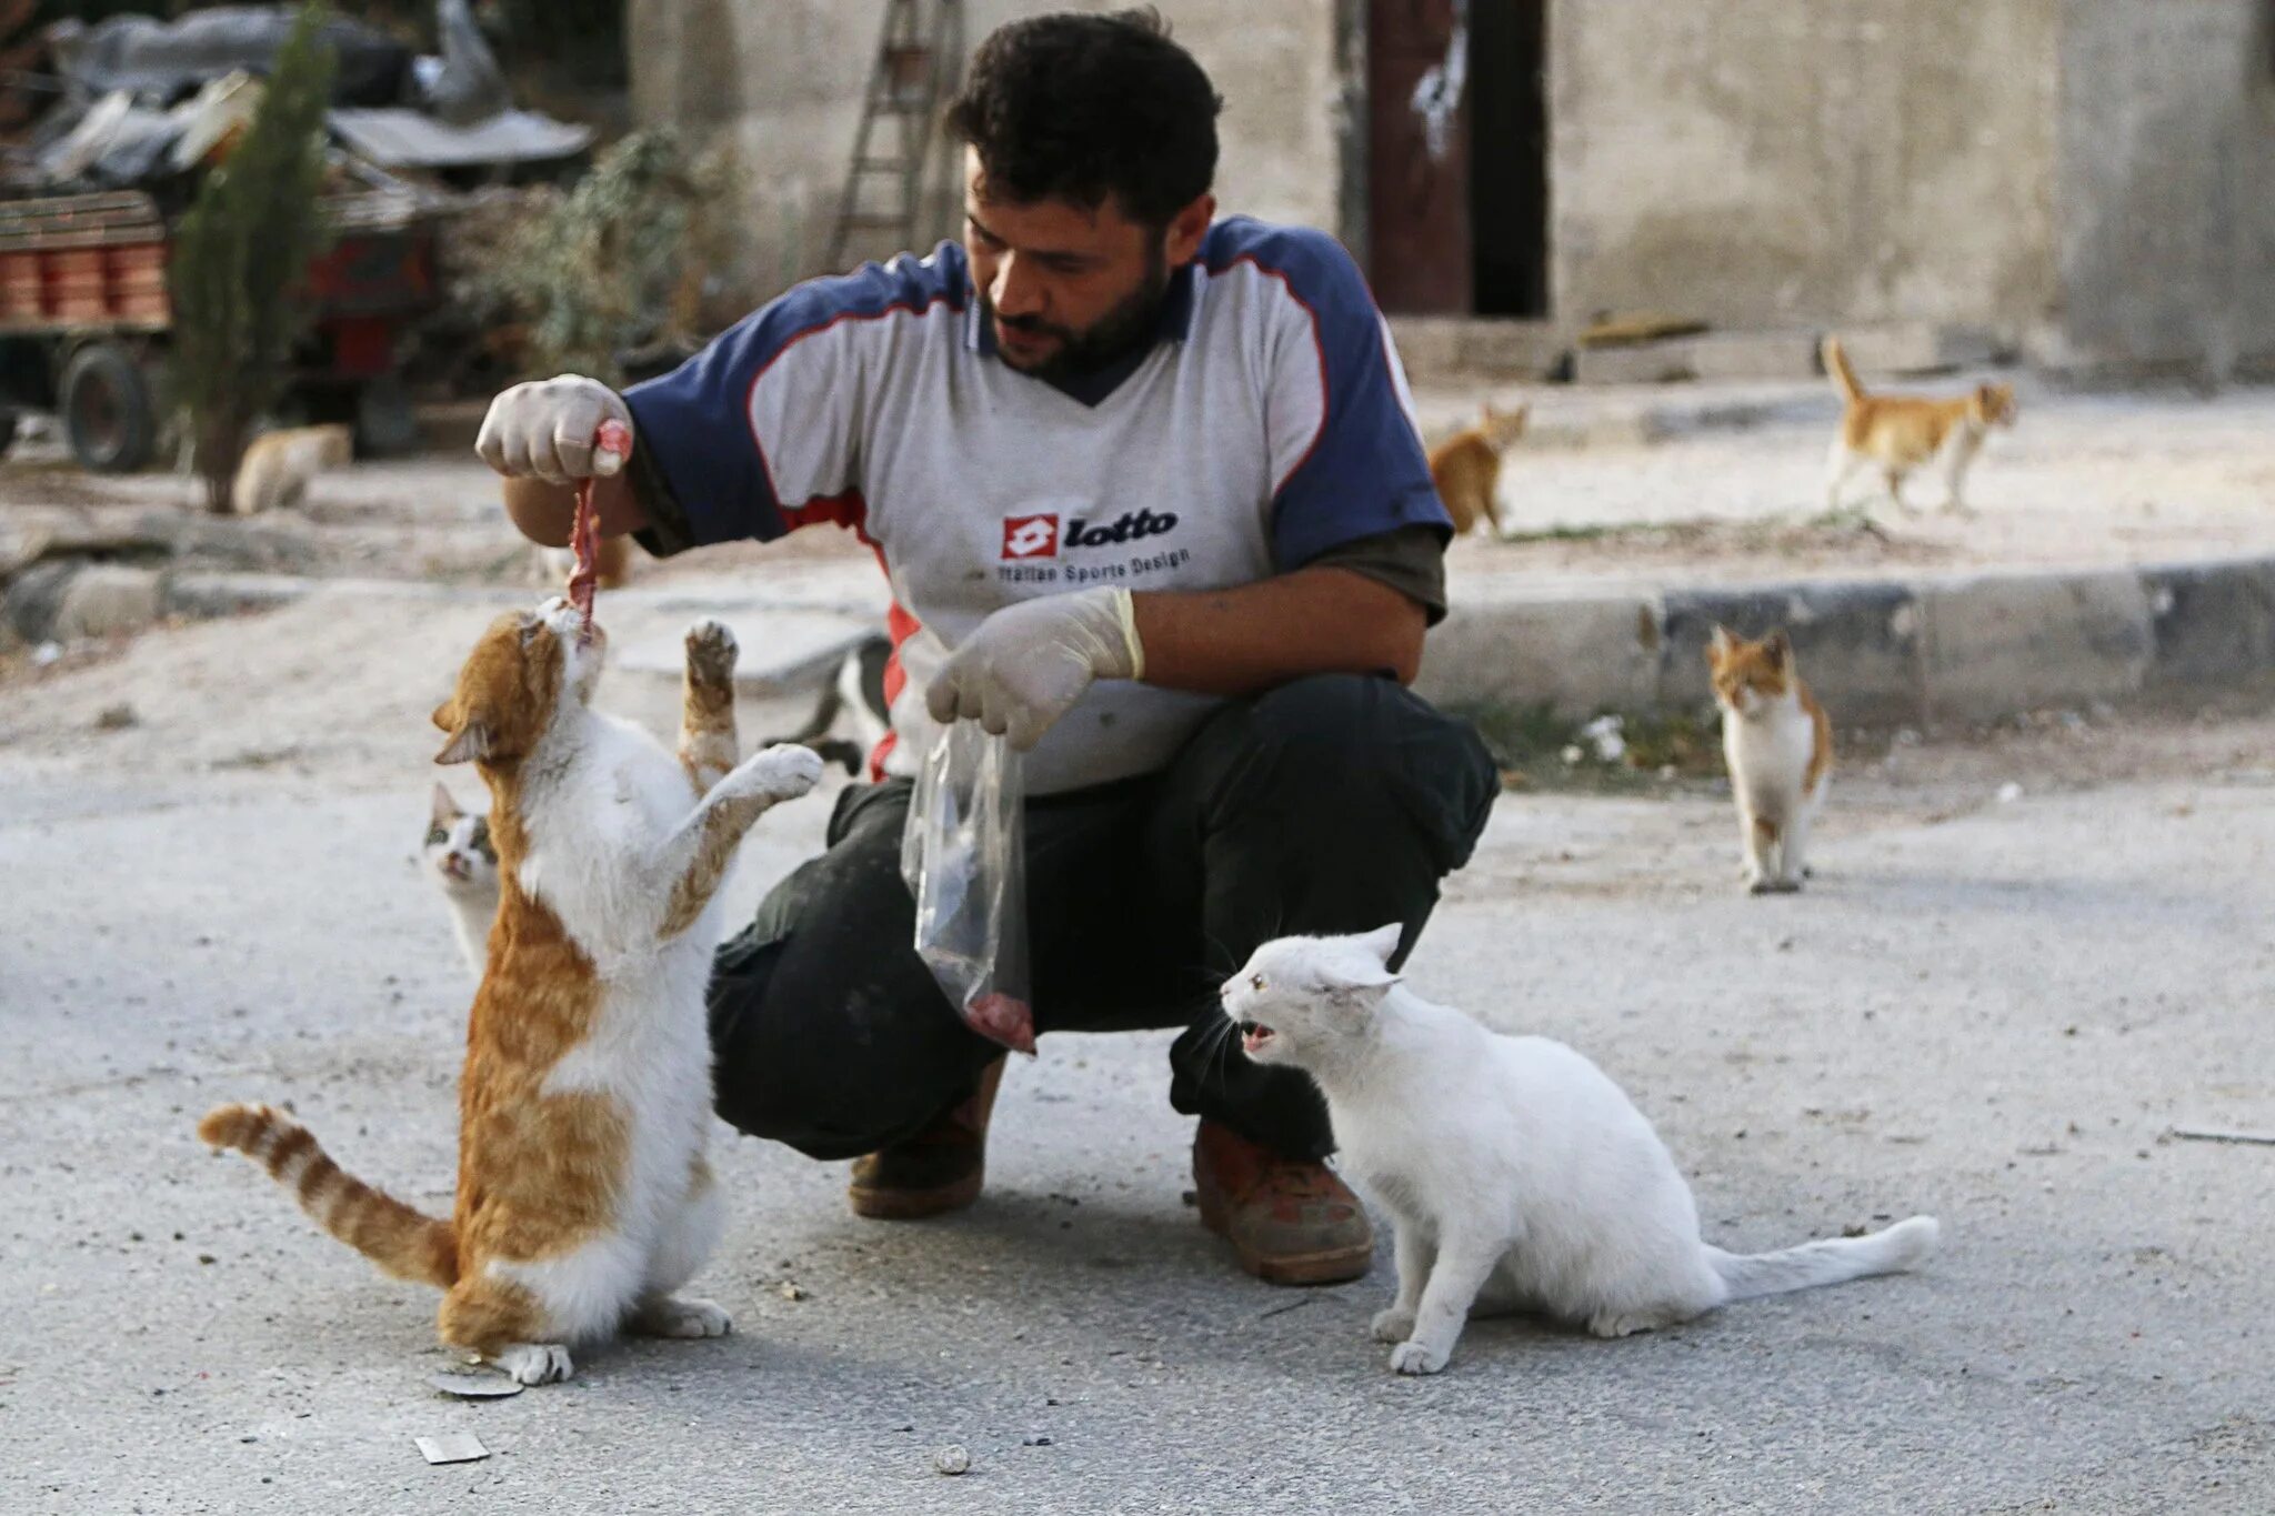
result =
[{"label": "beige wall section between the dark doorway and the greyer wall at right", "polygon": [[2057,18],[2059,0],[1554,0],[1556,316],[2038,316]]}]

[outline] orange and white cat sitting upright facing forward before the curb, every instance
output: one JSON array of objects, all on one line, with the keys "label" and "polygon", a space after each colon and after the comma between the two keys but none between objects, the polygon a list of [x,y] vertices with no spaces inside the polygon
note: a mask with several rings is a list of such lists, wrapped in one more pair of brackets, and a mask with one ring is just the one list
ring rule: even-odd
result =
[{"label": "orange and white cat sitting upright facing forward before the curb", "polygon": [[1834,723],[1802,684],[1784,632],[1749,643],[1715,627],[1706,670],[1722,707],[1745,884],[1756,896],[1797,891],[1809,875],[1809,827],[1831,784]]}]

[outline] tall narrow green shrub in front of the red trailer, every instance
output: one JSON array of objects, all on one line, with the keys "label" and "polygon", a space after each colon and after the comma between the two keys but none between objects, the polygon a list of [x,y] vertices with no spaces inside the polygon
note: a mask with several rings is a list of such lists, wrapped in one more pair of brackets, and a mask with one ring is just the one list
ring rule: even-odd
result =
[{"label": "tall narrow green shrub in front of the red trailer", "polygon": [[205,505],[230,507],[253,423],[291,382],[314,311],[309,264],[330,245],[323,211],[332,48],[323,5],[307,5],[278,52],[259,111],[205,175],[175,230],[173,400],[196,450]]}]

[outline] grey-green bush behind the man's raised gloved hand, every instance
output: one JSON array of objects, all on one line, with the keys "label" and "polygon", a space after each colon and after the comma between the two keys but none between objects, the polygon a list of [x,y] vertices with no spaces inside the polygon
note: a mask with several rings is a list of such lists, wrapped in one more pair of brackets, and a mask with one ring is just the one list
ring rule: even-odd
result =
[{"label": "grey-green bush behind the man's raised gloved hand", "polygon": [[721,193],[671,130],[632,132],[480,255],[469,302],[526,323],[530,373],[621,384],[628,352],[694,334]]}]

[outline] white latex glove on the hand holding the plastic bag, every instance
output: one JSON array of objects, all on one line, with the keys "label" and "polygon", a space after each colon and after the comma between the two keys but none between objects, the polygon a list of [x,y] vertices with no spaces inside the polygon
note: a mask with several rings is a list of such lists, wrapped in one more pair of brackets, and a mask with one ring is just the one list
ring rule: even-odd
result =
[{"label": "white latex glove on the hand holding the plastic bag", "polygon": [[1092,680],[1138,680],[1144,648],[1126,589],[1006,605],[974,627],[924,691],[933,720],[967,716],[1026,752]]}]

